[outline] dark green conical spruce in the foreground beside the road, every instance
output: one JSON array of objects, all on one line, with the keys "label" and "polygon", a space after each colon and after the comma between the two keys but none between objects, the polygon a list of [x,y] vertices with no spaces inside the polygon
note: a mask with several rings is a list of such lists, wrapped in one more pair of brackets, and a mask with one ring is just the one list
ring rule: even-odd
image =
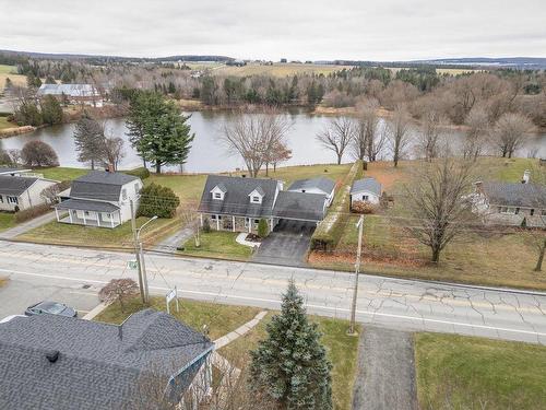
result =
[{"label": "dark green conical spruce in the foreground beside the road", "polygon": [[332,409],[332,365],[294,281],[283,295],[281,315],[272,318],[266,330],[268,339],[251,352],[251,387],[282,409]]}]

